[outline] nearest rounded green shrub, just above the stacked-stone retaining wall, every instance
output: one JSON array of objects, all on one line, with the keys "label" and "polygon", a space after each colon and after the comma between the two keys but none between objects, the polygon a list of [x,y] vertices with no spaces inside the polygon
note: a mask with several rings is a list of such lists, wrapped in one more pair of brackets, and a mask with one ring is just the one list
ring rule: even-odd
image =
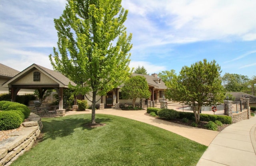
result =
[{"label": "nearest rounded green shrub, just above the stacked-stone retaining wall", "polygon": [[0,111],[0,130],[17,129],[22,123],[21,119],[16,111]]}]

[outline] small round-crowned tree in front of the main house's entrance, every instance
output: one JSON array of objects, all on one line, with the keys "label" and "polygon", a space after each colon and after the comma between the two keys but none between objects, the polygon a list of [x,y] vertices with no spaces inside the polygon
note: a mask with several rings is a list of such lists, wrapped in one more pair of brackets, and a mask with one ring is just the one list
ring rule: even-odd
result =
[{"label": "small round-crowned tree in front of the main house's entrance", "polygon": [[131,76],[121,88],[123,99],[132,100],[132,107],[135,107],[136,99],[149,98],[151,93],[148,89],[148,82],[144,76]]}]

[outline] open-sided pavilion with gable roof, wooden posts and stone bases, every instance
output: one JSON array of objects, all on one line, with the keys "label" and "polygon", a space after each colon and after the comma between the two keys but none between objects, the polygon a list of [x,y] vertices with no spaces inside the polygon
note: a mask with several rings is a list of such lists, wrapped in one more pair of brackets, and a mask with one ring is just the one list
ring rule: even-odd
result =
[{"label": "open-sided pavilion with gable roof, wooden posts and stone bases", "polygon": [[9,88],[12,102],[16,101],[16,96],[20,89],[38,90],[40,102],[42,102],[42,96],[46,90],[55,89],[59,96],[59,109],[57,110],[57,114],[63,115],[65,113],[65,109],[63,109],[63,89],[67,89],[68,84],[76,86],[74,82],[60,72],[50,70],[38,64],[32,64],[12,79],[2,84],[2,87]]}]

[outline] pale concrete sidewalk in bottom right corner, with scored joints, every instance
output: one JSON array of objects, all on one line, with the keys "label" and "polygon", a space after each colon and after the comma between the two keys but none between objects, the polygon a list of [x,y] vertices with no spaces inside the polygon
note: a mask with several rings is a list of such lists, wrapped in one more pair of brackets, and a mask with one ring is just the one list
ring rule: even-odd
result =
[{"label": "pale concrete sidewalk in bottom right corner, with scored joints", "polygon": [[256,117],[222,130],[197,166],[256,166]]}]

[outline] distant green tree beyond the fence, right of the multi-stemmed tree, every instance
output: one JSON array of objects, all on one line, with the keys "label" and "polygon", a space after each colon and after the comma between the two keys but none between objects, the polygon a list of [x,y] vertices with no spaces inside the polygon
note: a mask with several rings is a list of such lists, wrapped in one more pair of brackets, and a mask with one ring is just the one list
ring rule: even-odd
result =
[{"label": "distant green tree beyond the fence, right of the multi-stemmed tree", "polygon": [[248,76],[225,73],[222,76],[222,85],[226,92],[246,92],[251,94],[251,89],[249,88],[250,79]]}]

